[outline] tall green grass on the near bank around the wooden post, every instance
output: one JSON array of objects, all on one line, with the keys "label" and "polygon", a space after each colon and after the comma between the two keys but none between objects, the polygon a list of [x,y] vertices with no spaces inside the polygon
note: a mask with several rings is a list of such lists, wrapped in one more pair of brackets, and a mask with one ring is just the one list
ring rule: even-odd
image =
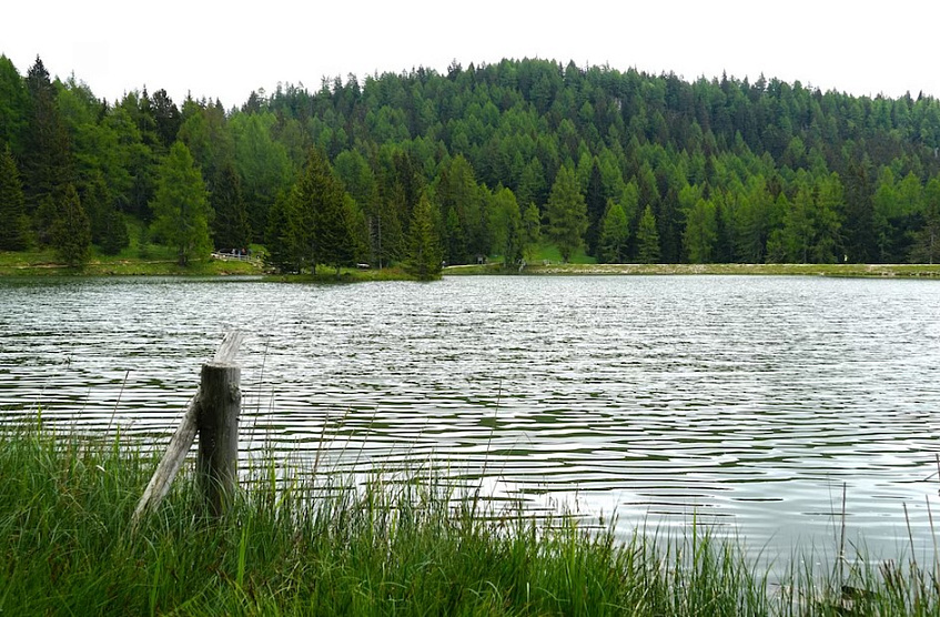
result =
[{"label": "tall green grass on the near bank around the wooden post", "polygon": [[[273,469],[221,520],[176,481],[130,526],[155,461],[133,444],[0,433],[0,614],[853,615],[936,614],[927,573],[795,575],[770,586],[730,545],[588,532],[486,510],[446,483],[338,481]],[[314,477],[296,469],[290,477]],[[456,505],[455,505],[456,504]],[[888,572],[888,570],[886,570]],[[853,599],[847,589],[866,589]],[[849,603],[851,606],[849,606]]]}]

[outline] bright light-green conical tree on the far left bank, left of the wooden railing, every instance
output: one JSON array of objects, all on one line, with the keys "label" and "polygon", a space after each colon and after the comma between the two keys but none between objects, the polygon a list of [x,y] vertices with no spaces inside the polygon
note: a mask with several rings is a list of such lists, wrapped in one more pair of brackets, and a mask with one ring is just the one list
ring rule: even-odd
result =
[{"label": "bright light-green conical tree on the far left bank, left of the wooden railing", "polygon": [[209,193],[189,149],[175,142],[156,173],[154,231],[176,250],[180,265],[209,256]]}]

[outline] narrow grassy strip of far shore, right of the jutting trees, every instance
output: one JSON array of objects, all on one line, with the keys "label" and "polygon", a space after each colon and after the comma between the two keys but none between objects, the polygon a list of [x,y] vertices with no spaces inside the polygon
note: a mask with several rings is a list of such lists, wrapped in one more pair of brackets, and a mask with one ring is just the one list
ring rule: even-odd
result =
[{"label": "narrow grassy strip of far shore, right of the jutting trees", "polygon": [[522,271],[503,269],[501,264],[455,265],[444,269],[445,275],[473,274],[554,274],[554,275],[687,275],[687,274],[754,274],[853,277],[921,277],[940,279],[940,265],[930,264],[800,264],[800,263],[708,263],[708,264],[592,264],[534,263]]}]

